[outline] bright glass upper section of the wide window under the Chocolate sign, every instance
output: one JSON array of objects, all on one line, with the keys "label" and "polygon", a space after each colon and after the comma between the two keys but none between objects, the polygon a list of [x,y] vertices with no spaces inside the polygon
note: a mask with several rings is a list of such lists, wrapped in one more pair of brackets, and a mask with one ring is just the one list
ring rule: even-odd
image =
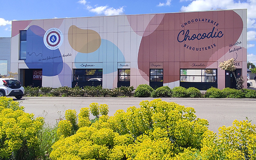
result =
[{"label": "bright glass upper section of the wide window under the Chocolate sign", "polygon": [[181,69],[181,82],[216,82],[217,69]]}]

